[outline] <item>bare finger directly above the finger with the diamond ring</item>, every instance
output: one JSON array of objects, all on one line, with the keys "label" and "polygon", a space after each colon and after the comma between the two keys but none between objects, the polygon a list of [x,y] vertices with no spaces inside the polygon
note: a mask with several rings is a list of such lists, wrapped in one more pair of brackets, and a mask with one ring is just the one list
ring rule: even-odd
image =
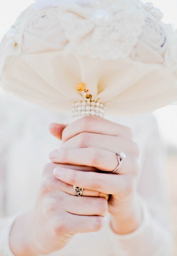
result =
[{"label": "bare finger directly above the finger with the diamond ring", "polygon": [[123,151],[125,154],[131,152],[132,154],[139,156],[138,145],[129,138],[86,132],[79,133],[68,141],[65,141],[60,149],[89,147],[97,147],[117,153]]}]

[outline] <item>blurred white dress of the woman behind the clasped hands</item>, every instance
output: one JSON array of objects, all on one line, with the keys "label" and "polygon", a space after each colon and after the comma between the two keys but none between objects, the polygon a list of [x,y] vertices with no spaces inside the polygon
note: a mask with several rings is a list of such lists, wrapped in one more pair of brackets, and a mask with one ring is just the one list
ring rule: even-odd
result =
[{"label": "blurred white dress of the woman behind the clasped hands", "polygon": [[[50,256],[170,256],[172,250],[170,202],[166,190],[165,151],[157,124],[151,114],[129,118],[106,116],[109,120],[130,126],[140,145],[138,193],[143,219],[140,227],[127,235],[114,234],[109,227],[96,233],[77,234],[61,251]],[[33,208],[40,177],[50,150],[61,142],[50,135],[52,122],[70,123],[71,116],[39,108],[19,98],[0,100],[0,173],[1,191],[0,255],[13,255],[9,249],[9,231],[18,212]],[[4,172],[4,173],[3,173]],[[3,180],[2,180],[3,178]]]}]

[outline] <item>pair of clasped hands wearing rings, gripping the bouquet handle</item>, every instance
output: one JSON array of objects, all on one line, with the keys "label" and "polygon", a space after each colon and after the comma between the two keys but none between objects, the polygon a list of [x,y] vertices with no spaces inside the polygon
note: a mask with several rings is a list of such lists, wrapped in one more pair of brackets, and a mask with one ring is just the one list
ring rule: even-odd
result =
[{"label": "pair of clasped hands wearing rings, gripping the bouquet handle", "polygon": [[[141,222],[136,197],[139,147],[131,129],[86,116],[70,125],[51,124],[50,132],[63,144],[50,152],[51,162],[43,169],[34,210],[13,226],[10,245],[14,254],[58,251],[77,233],[99,231],[108,212],[115,233],[137,229]],[[120,151],[126,158],[114,174],[111,171],[118,165],[114,152]],[[83,187],[83,196],[76,195],[73,185]],[[22,225],[23,231],[16,236]]]}]

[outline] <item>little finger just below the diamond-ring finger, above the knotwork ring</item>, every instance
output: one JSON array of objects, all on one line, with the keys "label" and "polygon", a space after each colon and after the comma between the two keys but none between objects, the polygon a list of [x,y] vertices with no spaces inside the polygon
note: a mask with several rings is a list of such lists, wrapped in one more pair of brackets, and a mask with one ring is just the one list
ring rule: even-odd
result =
[{"label": "little finger just below the diamond-ring finger, above the knotwork ring", "polygon": [[120,194],[126,186],[124,175],[82,172],[67,168],[55,168],[54,175],[57,179],[70,185],[76,184],[78,187],[100,191],[105,194]]}]

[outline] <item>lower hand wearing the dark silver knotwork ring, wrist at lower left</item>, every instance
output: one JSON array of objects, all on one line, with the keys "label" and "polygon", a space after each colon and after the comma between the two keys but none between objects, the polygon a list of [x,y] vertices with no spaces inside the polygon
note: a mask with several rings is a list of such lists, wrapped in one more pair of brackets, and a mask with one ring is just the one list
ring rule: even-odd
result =
[{"label": "lower hand wearing the dark silver knotwork ring, wrist at lower left", "polygon": [[[54,177],[53,170],[61,165],[45,165],[34,211],[15,221],[10,234],[14,255],[49,254],[65,247],[75,234],[99,231],[103,226],[108,195],[83,190],[85,196],[77,196],[73,186]],[[81,166],[70,168],[83,170]]]}]

